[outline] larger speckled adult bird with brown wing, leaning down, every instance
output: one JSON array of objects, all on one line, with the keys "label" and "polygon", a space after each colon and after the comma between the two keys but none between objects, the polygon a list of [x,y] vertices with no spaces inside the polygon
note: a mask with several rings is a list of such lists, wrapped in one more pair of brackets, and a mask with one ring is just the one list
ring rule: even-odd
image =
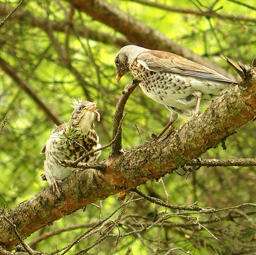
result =
[{"label": "larger speckled adult bird with brown wing, leaning down", "polygon": [[[140,81],[143,92],[171,111],[170,122],[160,138],[177,120],[178,114],[196,117],[199,107],[219,96],[231,84],[237,84],[225,76],[176,54],[127,45],[115,56],[116,82],[132,72]],[[168,135],[169,135],[168,134]]]}]

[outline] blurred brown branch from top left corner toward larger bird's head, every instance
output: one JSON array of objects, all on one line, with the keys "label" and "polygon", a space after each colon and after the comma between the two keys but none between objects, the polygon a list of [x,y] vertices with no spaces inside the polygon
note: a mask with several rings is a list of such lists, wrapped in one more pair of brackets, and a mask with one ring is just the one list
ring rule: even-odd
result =
[{"label": "blurred brown branch from top left corner toward larger bird's head", "polygon": [[[7,15],[10,9],[11,8],[6,3],[0,2],[1,15]],[[46,24],[49,23],[52,27],[52,30],[54,30],[55,32],[65,33],[65,21],[63,21],[62,23],[57,21],[51,21],[49,19],[37,17],[33,15],[33,13],[30,13],[28,11],[18,10],[13,14],[11,19],[15,19],[16,22],[19,20],[24,21],[28,26],[39,27],[42,29],[44,29]],[[119,48],[131,44],[131,42],[125,37],[121,37],[118,35],[113,36],[109,33],[100,32],[99,30],[93,30],[92,28],[85,26],[85,24],[77,25],[75,28],[76,34],[78,36],[91,39],[93,41],[98,41],[107,45],[116,45]],[[74,27],[72,27],[72,29],[70,30],[70,34],[75,35],[73,29]]]}]

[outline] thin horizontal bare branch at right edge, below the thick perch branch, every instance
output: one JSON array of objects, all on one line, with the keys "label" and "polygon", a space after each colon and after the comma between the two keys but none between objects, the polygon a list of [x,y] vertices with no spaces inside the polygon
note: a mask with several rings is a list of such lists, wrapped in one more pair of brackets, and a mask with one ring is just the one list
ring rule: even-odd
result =
[{"label": "thin horizontal bare branch at right edge, below the thick perch branch", "polygon": [[186,165],[202,167],[250,167],[256,166],[256,159],[192,159]]}]

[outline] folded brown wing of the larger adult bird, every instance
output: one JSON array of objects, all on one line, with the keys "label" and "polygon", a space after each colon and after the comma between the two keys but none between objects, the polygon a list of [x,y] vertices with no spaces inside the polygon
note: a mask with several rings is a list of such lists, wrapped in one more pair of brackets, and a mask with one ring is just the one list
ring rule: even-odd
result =
[{"label": "folded brown wing of the larger adult bird", "polygon": [[138,56],[138,60],[145,62],[148,69],[155,72],[177,73],[202,79],[237,83],[237,81],[232,81],[206,66],[166,51],[145,51]]}]

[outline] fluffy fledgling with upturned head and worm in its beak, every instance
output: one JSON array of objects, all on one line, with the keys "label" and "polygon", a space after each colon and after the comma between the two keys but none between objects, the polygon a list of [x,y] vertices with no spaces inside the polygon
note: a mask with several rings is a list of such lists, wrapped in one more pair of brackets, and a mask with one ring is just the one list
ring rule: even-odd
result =
[{"label": "fluffy fledgling with upturned head and worm in its beak", "polygon": [[[89,101],[73,99],[74,111],[70,120],[63,123],[53,131],[41,154],[46,154],[44,161],[44,174],[40,177],[52,185],[53,192],[61,197],[58,183],[67,178],[76,170],[73,167],[63,167],[58,161],[80,158],[87,152],[100,148],[99,137],[94,131],[94,118],[100,121],[100,114],[96,110],[96,104]],[[82,162],[97,161],[101,151],[87,156]]]}]

